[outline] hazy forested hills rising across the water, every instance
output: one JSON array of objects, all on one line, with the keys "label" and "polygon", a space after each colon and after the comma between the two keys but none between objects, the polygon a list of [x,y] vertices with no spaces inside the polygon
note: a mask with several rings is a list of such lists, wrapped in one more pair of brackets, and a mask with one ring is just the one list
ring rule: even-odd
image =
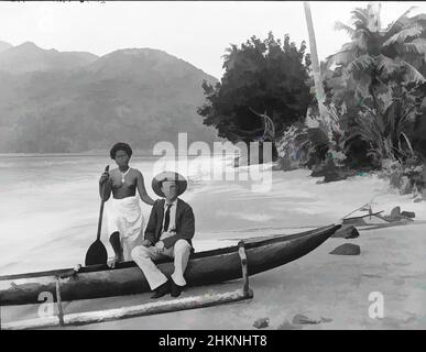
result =
[{"label": "hazy forested hills rising across the water", "polygon": [[125,48],[98,57],[0,42],[0,152],[103,150],[117,141],[211,142],[201,82],[217,79],[165,52]]}]

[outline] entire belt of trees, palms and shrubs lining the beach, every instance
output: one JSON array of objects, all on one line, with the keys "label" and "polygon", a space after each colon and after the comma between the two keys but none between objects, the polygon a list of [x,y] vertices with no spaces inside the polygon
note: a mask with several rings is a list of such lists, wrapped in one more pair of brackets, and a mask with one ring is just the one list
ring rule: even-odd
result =
[{"label": "entire belt of trees, palms and shrubs lining the beach", "polygon": [[[315,35],[310,10],[305,10],[314,62]],[[241,47],[232,45],[221,82],[204,86],[207,102],[198,113],[205,124],[234,142],[238,129],[261,128],[250,108],[265,111],[277,127],[275,144],[286,169],[308,166],[320,174],[327,166],[350,175],[393,168],[409,179],[409,189],[422,189],[426,14],[413,15],[414,11],[409,8],[383,26],[380,3],[353,9],[350,24],[336,23],[336,30],[348,34],[348,43],[312,65],[319,75],[316,85],[305,43],[297,51],[285,36],[282,46],[271,33],[263,42],[252,37]]]}]

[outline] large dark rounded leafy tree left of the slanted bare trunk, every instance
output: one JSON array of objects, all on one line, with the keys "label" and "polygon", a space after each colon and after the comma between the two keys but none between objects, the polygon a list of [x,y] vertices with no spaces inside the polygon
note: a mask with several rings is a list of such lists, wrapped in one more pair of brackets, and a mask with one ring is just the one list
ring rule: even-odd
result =
[{"label": "large dark rounded leafy tree left of the slanted bare trunk", "polygon": [[233,143],[250,142],[262,136],[259,113],[265,113],[274,123],[275,135],[282,135],[305,118],[312,100],[310,61],[305,50],[305,42],[297,48],[288,35],[282,43],[272,33],[263,41],[252,36],[240,47],[231,45],[223,56],[221,81],[203,85],[206,102],[198,113],[204,123]]}]

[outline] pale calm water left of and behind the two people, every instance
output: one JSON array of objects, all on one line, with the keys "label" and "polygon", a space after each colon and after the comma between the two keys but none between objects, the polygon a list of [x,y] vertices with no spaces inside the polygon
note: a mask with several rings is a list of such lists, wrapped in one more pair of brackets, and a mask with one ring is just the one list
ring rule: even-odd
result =
[{"label": "pale calm water left of and behind the two people", "polygon": [[[151,179],[156,161],[131,160],[154,199]],[[98,178],[107,164],[116,167],[105,156],[0,155],[0,274],[84,262],[88,245],[96,239]],[[194,179],[199,172],[193,172]],[[190,187],[185,197],[190,197]],[[151,207],[142,204],[142,209],[148,219]],[[106,226],[102,230],[106,241]]]}]

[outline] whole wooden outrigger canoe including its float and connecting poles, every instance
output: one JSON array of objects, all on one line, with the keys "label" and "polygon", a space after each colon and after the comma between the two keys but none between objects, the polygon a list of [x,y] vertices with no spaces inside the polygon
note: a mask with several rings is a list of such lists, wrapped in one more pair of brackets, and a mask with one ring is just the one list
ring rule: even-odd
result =
[{"label": "whole wooden outrigger canoe including its float and connecting poles", "polygon": [[[141,294],[150,290],[142,271],[133,263],[91,265],[39,273],[0,276],[0,305],[40,304],[41,293],[52,293],[58,316],[2,323],[1,329],[36,329],[76,326],[116,319],[209,307],[250,299],[253,292],[249,275],[262,273],[306,255],[331,237],[341,224],[331,224],[296,234],[251,238],[238,245],[192,254],[185,277],[188,286],[211,285],[243,278],[241,289],[132,307],[64,315],[62,302]],[[156,262],[166,275],[173,272],[172,260]]]}]

